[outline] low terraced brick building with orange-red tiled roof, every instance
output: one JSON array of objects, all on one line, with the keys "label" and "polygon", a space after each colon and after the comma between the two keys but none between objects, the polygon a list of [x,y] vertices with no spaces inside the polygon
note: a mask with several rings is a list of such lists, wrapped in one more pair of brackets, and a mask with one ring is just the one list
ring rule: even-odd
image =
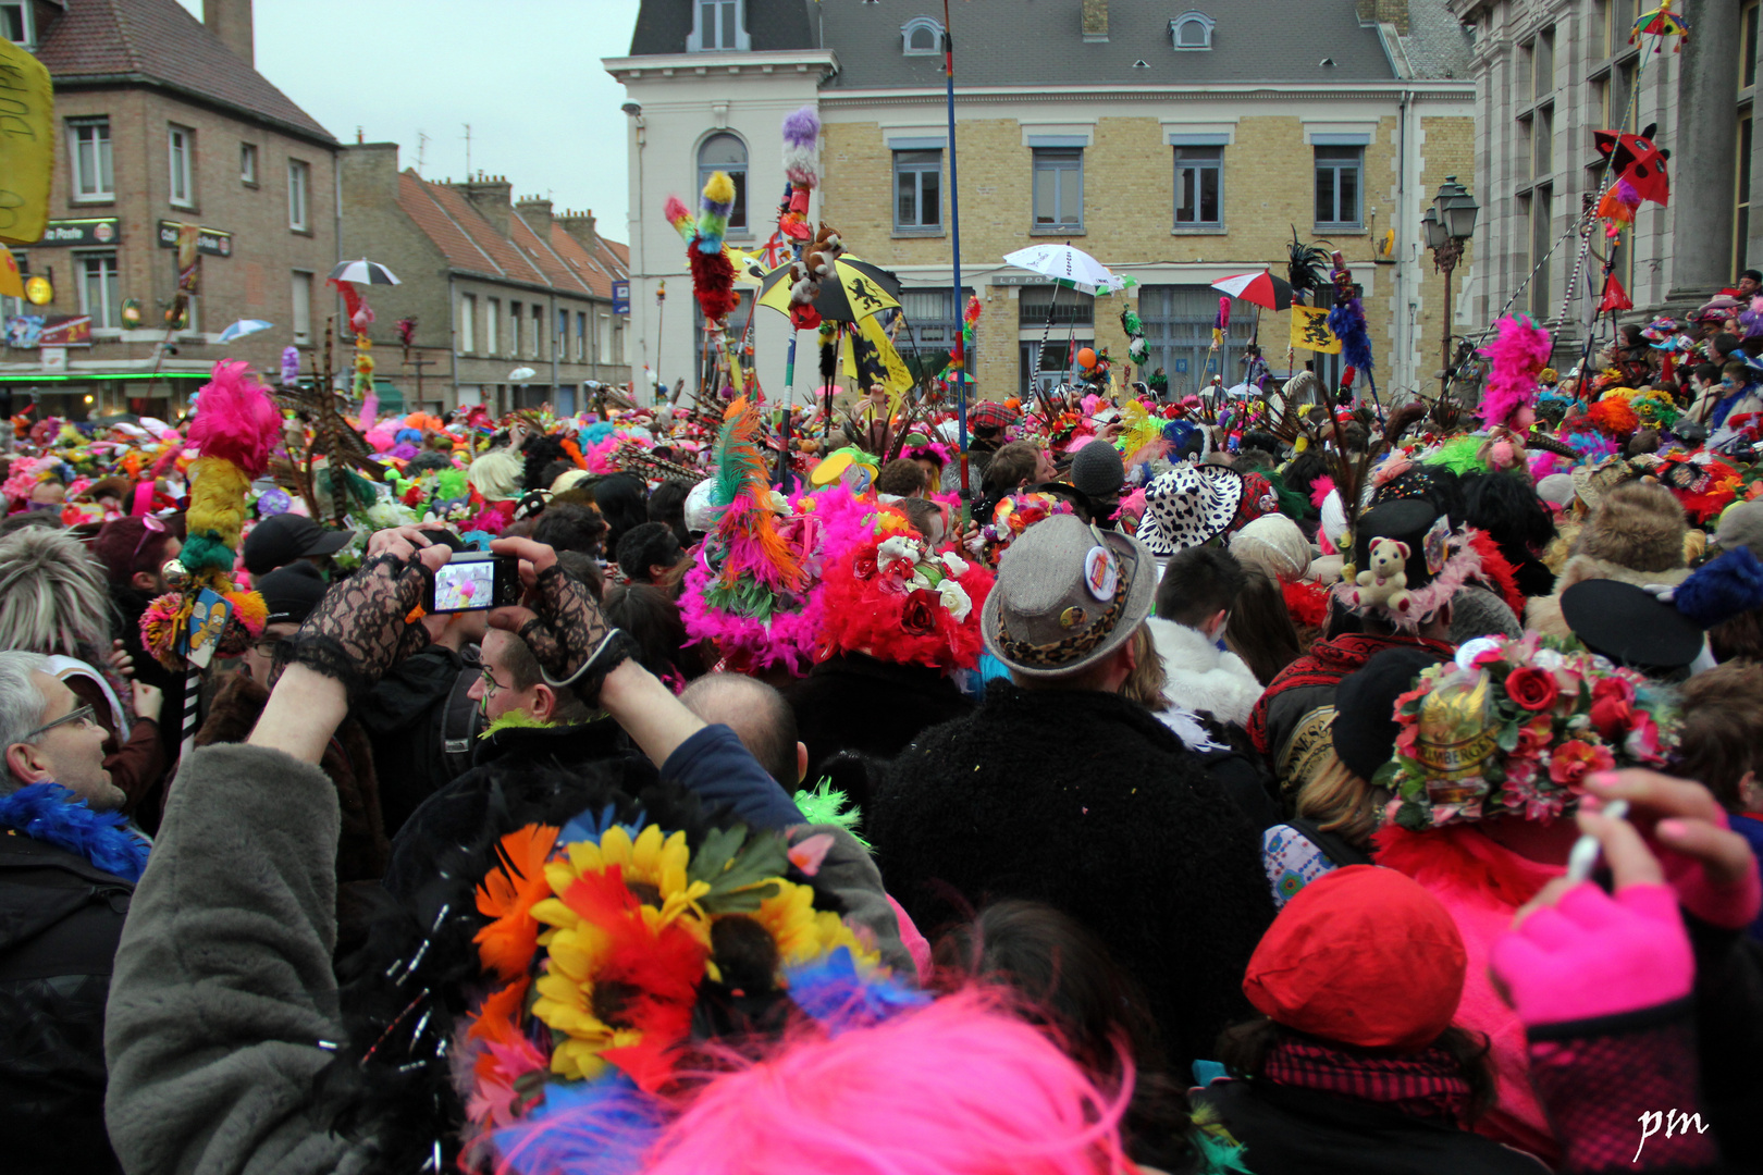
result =
[{"label": "low terraced brick building with orange-red tiled roof", "polygon": [[[629,382],[614,303],[628,257],[592,211],[517,201],[504,176],[423,180],[398,169],[397,143],[356,143],[342,155],[342,243],[346,257],[377,261],[402,282],[368,291],[383,403],[390,393],[432,409],[575,412],[592,403],[592,386]],[[407,317],[416,331],[405,354],[395,324]],[[534,373],[511,379],[520,368]]]}]

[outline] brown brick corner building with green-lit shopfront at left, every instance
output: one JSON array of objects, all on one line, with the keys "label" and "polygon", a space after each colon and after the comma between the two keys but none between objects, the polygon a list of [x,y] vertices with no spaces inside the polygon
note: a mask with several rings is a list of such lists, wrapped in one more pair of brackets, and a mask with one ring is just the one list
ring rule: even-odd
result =
[{"label": "brown brick corner building with green-lit shopfront at left", "polygon": [[[176,412],[217,359],[275,370],[310,331],[337,262],[337,141],[252,67],[250,0],[0,4],[4,32],[55,83],[51,227],[16,248],[53,301],[4,299],[0,388],[42,412]],[[201,287],[167,329],[176,225],[201,227]],[[33,329],[90,317],[90,345],[41,345]],[[275,324],[227,345],[236,319]],[[12,322],[9,322],[12,326]],[[51,329],[51,338],[55,333]]]}]

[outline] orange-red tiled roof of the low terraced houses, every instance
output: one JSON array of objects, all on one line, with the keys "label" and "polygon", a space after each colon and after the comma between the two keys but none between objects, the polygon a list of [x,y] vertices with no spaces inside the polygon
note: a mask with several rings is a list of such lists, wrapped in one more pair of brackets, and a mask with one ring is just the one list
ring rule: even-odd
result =
[{"label": "orange-red tiled roof of the low terraced houses", "polygon": [[398,208],[465,273],[596,298],[612,298],[614,278],[629,277],[622,243],[596,234],[599,248],[589,252],[555,222],[541,238],[518,210],[510,210],[502,236],[458,190],[409,169],[398,173]]}]

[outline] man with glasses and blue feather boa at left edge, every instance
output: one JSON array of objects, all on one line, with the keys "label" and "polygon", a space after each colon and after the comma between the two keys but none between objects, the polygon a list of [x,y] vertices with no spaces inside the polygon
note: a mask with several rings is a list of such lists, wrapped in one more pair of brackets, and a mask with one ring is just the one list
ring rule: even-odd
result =
[{"label": "man with glasses and blue feather boa at left edge", "polygon": [[0,1105],[7,1170],[116,1171],[104,1002],[146,840],[104,728],[39,654],[0,652]]}]

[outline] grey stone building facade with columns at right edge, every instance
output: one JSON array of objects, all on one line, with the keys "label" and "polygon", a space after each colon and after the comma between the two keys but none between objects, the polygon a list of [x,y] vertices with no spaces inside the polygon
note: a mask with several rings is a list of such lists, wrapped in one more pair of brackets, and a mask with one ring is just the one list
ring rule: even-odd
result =
[{"label": "grey stone building facade with columns at right edge", "polygon": [[1763,222],[1751,217],[1751,192],[1763,185],[1763,143],[1751,129],[1763,63],[1758,0],[1687,0],[1678,5],[1692,26],[1687,44],[1631,46],[1633,23],[1654,7],[1451,0],[1476,41],[1483,240],[1469,301],[1477,321],[1527,310],[1557,329],[1562,349],[1583,345],[1606,238],[1601,225],[1581,234],[1581,213],[1613,181],[1596,130],[1654,127],[1671,155],[1670,204],[1641,204],[1615,255],[1633,317],[1692,308],[1763,264]]}]

